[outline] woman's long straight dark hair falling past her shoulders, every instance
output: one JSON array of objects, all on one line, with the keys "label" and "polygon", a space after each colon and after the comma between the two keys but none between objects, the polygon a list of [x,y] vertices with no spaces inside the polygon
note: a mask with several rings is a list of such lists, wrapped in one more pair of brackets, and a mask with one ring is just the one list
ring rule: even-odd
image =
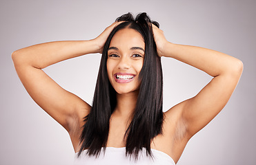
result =
[{"label": "woman's long straight dark hair falling past her shoulders", "polygon": [[132,14],[124,14],[116,21],[124,21],[115,27],[104,45],[101,56],[101,64],[97,77],[95,95],[90,113],[84,118],[85,124],[81,133],[81,148],[78,156],[85,149],[87,154],[99,156],[101,148],[106,149],[108,142],[109,120],[117,104],[116,91],[108,80],[106,61],[108,58],[108,47],[115,33],[124,28],[137,30],[143,36],[145,42],[144,64],[139,74],[141,85],[139,96],[133,113],[132,121],[125,133],[126,155],[134,155],[138,158],[139,151],[146,148],[146,155],[152,157],[150,150],[151,140],[162,133],[164,114],[163,106],[163,76],[161,69],[161,58],[157,55],[152,34],[152,25],[159,28],[159,24],[150,21],[144,12],[138,14],[134,19]]}]

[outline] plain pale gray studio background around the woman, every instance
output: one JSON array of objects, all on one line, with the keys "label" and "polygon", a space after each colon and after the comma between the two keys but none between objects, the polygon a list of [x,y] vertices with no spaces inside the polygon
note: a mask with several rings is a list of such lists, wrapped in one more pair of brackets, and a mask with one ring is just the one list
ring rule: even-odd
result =
[{"label": "plain pale gray studio background around the woman", "polygon": [[[72,164],[68,133],[28,96],[14,70],[14,50],[37,43],[95,38],[127,12],[148,12],[166,39],[224,52],[244,63],[244,73],[226,107],[186,146],[179,165],[256,164],[255,1],[0,2],[0,164]],[[44,71],[61,87],[92,102],[100,54],[52,65]],[[164,110],[195,96],[210,76],[162,58]]]}]

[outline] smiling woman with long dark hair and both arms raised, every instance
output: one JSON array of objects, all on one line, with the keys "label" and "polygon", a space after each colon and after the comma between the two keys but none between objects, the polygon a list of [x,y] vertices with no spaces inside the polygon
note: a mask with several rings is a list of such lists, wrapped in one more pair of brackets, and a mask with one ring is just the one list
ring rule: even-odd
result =
[{"label": "smiling woman with long dark hair and both arms raised", "polygon": [[[91,107],[42,69],[92,53],[102,57]],[[165,113],[161,56],[213,76]],[[68,131],[77,164],[177,163],[188,140],[226,105],[243,69],[232,56],[166,41],[146,13],[124,14],[96,39],[33,45],[13,52],[12,60],[30,96]]]}]

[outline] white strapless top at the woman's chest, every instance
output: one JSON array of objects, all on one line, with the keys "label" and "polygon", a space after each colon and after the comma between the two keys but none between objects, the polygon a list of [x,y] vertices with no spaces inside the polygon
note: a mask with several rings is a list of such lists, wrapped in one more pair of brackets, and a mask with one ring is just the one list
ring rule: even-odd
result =
[{"label": "white strapless top at the woman's chest", "polygon": [[101,153],[99,157],[95,158],[95,156],[88,156],[86,151],[83,151],[80,157],[77,158],[78,153],[75,153],[75,165],[101,165],[101,164],[111,164],[111,165],[175,165],[172,157],[163,153],[161,151],[157,151],[155,149],[151,149],[153,159],[150,156],[146,155],[146,148],[139,152],[139,159],[135,162],[135,159],[130,156],[126,156],[126,148],[115,148],[115,147],[106,147],[105,155],[103,149],[101,149]]}]

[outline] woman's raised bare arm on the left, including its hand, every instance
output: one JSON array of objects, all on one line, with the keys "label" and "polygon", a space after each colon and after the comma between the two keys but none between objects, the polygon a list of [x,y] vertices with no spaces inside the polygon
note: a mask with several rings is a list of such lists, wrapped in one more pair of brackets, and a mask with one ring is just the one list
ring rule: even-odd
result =
[{"label": "woman's raised bare arm on the left, including its hand", "polygon": [[116,24],[113,23],[90,41],[42,43],[12,53],[15,69],[28,94],[68,132],[72,131],[74,120],[78,119],[79,125],[82,124],[83,117],[90,111],[90,105],[61,88],[42,69],[83,54],[100,53]]}]

